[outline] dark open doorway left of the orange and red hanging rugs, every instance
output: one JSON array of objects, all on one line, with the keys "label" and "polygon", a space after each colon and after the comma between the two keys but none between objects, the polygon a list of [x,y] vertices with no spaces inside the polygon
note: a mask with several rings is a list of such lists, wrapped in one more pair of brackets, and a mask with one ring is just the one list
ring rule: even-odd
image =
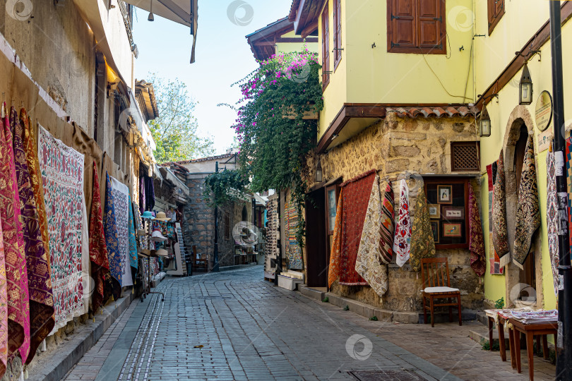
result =
[{"label": "dark open doorway left of the orange and red hanging rugs", "polygon": [[[311,238],[308,238],[311,237]],[[323,188],[306,198],[306,284],[325,287],[328,279],[326,252],[326,200]]]}]

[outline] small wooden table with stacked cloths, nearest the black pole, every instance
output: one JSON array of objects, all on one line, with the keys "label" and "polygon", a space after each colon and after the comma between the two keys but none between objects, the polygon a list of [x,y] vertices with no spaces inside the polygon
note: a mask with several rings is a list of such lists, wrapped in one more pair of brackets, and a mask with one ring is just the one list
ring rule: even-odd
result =
[{"label": "small wooden table with stacked cloths, nearest the black pole", "polygon": [[[542,336],[542,354],[544,358],[548,358],[548,341],[547,334],[553,334],[554,340],[556,340],[556,334],[558,333],[558,323],[531,323],[524,324],[513,318],[508,319],[513,327],[513,341],[511,341],[511,358],[513,353],[516,355],[516,370],[520,373],[520,334],[525,334],[526,337],[526,353],[528,355],[528,377],[530,381],[535,379],[535,353],[532,346],[534,337],[537,337],[537,346],[540,346],[540,336]],[[514,349],[514,351],[512,350]]]}]

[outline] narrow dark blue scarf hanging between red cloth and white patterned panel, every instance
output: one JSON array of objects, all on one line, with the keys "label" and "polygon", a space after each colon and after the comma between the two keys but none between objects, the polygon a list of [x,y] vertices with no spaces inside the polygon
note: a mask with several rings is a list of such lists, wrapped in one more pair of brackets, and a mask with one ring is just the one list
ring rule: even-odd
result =
[{"label": "narrow dark blue scarf hanging between red cloth and white patterned panel", "polygon": [[113,205],[113,188],[109,174],[106,172],[105,191],[105,246],[107,247],[107,258],[109,260],[109,272],[112,294],[117,300],[121,296],[121,252],[119,251],[119,241],[117,238],[117,222],[115,220],[115,209]]}]

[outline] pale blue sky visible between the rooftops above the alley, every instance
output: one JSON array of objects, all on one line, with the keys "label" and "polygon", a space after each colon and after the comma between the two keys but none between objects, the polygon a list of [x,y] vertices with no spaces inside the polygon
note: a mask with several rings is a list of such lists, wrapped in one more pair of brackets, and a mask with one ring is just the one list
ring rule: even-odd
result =
[{"label": "pale blue sky visible between the rooftops above the alley", "polygon": [[[242,6],[237,7],[237,5]],[[166,79],[186,83],[198,102],[198,133],[212,136],[215,153],[225,153],[232,145],[232,123],[236,112],[219,103],[234,104],[240,98],[237,80],[254,71],[258,64],[244,36],[288,15],[292,0],[198,0],[196,62],[190,64],[192,37],[189,28],[136,9],[133,38],[139,49],[135,77],[156,73]],[[232,10],[236,8],[233,13]],[[229,10],[231,16],[229,16]]]}]

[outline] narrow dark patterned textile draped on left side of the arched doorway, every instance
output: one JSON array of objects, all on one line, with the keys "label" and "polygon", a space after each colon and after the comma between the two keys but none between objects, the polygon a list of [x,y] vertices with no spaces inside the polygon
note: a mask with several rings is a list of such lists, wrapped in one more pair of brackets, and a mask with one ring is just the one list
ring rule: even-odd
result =
[{"label": "narrow dark patterned textile draped on left side of the arched doorway", "polygon": [[[508,225],[506,224],[506,190],[504,178],[504,157],[503,151],[497,162],[496,177],[494,178],[493,189],[493,245],[496,254],[501,259],[501,265],[505,265],[510,259],[503,258],[508,255]],[[504,267],[504,266],[501,266]]]}]

